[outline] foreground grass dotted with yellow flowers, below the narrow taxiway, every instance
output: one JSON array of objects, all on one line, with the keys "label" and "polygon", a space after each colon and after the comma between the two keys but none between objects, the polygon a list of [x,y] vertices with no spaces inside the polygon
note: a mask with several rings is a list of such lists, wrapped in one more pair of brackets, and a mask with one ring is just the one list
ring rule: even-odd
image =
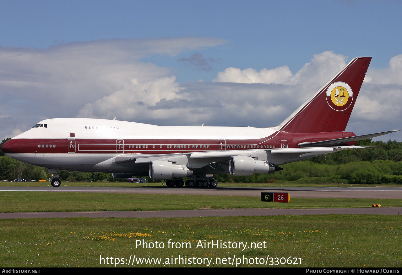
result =
[{"label": "foreground grass dotted with yellow flowers, below the narrow taxiway", "polygon": [[[102,257],[301,258],[279,267],[402,267],[401,216],[324,215],[202,218],[54,218],[1,221],[2,267],[102,267]],[[170,248],[168,240],[190,242]],[[137,240],[163,249],[136,247]],[[265,242],[265,249],[203,249],[198,241]],[[275,264],[275,259],[273,259]],[[271,264],[269,261],[268,265]],[[117,266],[127,266],[117,265]],[[137,265],[136,265],[137,266]],[[145,264],[141,266],[147,266]],[[150,265],[148,265],[150,266]],[[205,265],[152,265],[204,267]],[[227,267],[228,265],[211,265]],[[240,264],[240,267],[261,265]]]}]

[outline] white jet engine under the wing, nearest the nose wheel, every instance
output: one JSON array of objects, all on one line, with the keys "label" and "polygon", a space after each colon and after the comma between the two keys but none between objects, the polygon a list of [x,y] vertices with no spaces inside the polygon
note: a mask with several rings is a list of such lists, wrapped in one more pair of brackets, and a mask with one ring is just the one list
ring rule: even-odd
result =
[{"label": "white jet engine under the wing, nearest the nose wheel", "polygon": [[151,161],[149,175],[151,179],[190,177],[193,175],[193,170],[186,165],[173,164],[170,161]]}]

